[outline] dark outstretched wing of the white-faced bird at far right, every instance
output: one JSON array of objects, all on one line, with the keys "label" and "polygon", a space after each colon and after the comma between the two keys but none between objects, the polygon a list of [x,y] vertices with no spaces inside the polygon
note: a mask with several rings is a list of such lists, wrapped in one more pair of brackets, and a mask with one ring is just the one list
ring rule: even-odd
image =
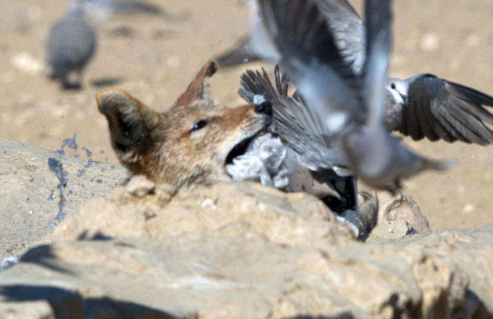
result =
[{"label": "dark outstretched wing of the white-faced bird at far right", "polygon": [[402,108],[400,133],[415,140],[456,140],[481,145],[493,144],[493,97],[462,84],[432,74],[419,74],[406,80],[409,105]]}]

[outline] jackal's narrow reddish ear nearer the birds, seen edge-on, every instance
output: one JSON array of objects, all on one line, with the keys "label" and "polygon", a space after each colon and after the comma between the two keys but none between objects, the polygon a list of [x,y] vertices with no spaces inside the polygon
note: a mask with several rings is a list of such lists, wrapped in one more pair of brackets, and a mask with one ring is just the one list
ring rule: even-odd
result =
[{"label": "jackal's narrow reddish ear nearer the birds, seen edge-on", "polygon": [[187,90],[181,94],[175,103],[176,107],[188,107],[199,100],[206,100],[213,103],[211,90],[209,88],[209,78],[216,73],[217,65],[214,61],[209,61],[197,73]]}]

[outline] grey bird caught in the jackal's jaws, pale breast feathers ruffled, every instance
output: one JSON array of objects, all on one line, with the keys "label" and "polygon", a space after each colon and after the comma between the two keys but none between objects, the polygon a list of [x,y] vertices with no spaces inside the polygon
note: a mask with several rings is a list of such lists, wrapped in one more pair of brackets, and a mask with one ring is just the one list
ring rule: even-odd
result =
[{"label": "grey bird caught in the jackal's jaws, pale breast feathers ruffled", "polygon": [[[289,80],[285,75],[281,78],[279,67],[275,68],[274,79],[275,87],[263,69],[262,73],[247,70],[241,76],[239,95],[249,103],[271,103],[274,118],[270,132],[255,139],[244,155],[227,165],[228,173],[235,180],[257,180],[285,192],[313,194],[340,221],[350,225],[358,239],[364,240],[376,224],[376,199],[362,193],[362,202],[358,203],[356,179],[340,150],[329,147],[331,140],[321,140],[304,129],[304,122],[298,119],[312,115],[299,94],[288,94]],[[338,165],[325,169],[314,165],[320,163],[321,153]],[[306,154],[314,158],[306,159]]]}]

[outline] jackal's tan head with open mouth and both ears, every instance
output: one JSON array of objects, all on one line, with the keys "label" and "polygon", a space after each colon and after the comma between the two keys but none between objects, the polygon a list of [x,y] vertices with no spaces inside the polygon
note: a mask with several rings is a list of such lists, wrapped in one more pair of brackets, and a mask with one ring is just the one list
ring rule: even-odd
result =
[{"label": "jackal's tan head with open mouth and both ears", "polygon": [[216,64],[208,62],[163,113],[125,91],[96,95],[99,111],[108,119],[113,148],[132,174],[179,188],[230,179],[225,164],[266,129],[272,108],[269,103],[215,105],[208,80],[216,70]]}]

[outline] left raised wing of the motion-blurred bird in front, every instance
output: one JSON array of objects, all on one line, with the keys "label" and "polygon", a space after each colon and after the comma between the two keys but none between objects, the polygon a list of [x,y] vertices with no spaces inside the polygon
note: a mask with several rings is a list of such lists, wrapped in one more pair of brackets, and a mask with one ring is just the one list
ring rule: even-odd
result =
[{"label": "left raised wing of the motion-blurred bird in front", "polygon": [[[312,112],[331,122],[333,131],[343,120],[335,113],[362,121],[358,100],[361,79],[347,65],[320,0],[258,0],[262,22],[280,53],[280,65],[296,84]],[[314,85],[316,83],[317,85]]]}]

